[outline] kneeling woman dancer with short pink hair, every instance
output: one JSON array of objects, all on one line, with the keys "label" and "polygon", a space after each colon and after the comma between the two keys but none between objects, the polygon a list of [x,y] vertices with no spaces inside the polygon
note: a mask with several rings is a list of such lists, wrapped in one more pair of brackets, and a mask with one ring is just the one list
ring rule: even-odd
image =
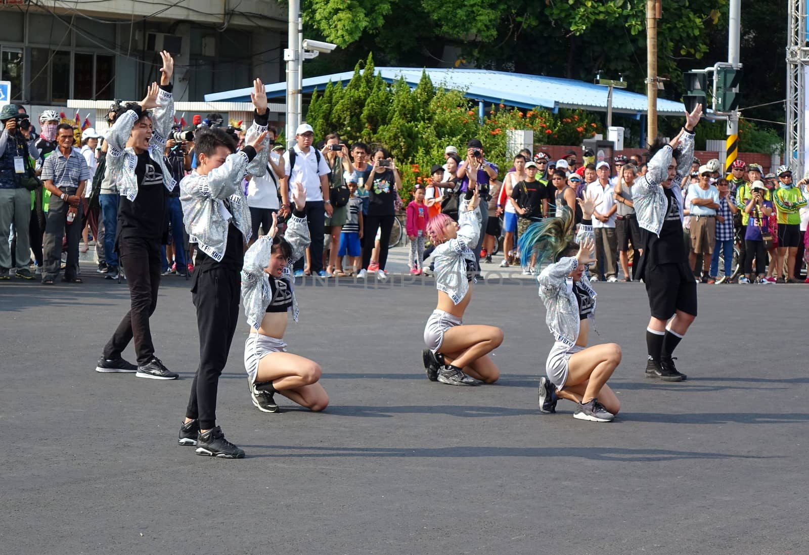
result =
[{"label": "kneeling woman dancer with short pink hair", "polygon": [[477,171],[468,175],[472,181],[466,199],[461,201],[460,225],[447,214],[438,214],[427,222],[427,235],[435,245],[432,256],[438,306],[424,328],[424,342],[429,349],[422,351],[421,358],[430,381],[450,385],[477,385],[476,379],[494,383],[500,377],[488,353],[502,343],[502,329],[461,325],[472,299],[469,282],[477,269],[470,249],[475,248],[481,235],[481,213],[477,210],[480,197],[474,182]]}]

